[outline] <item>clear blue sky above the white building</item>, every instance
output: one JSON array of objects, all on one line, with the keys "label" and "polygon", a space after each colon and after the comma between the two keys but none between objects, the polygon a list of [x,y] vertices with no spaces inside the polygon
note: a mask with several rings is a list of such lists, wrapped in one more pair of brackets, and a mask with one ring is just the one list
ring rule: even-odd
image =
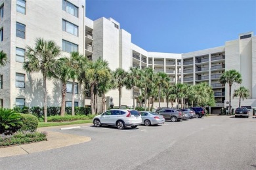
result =
[{"label": "clear blue sky above the white building", "polygon": [[114,18],[150,52],[185,53],[256,35],[255,0],[87,0],[86,16]]}]

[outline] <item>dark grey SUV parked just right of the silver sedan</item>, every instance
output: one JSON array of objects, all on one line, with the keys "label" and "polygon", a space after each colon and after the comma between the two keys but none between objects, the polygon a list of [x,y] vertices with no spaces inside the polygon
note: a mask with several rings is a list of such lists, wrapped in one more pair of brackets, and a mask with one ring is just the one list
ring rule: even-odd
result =
[{"label": "dark grey SUV parked just right of the silver sedan", "polygon": [[175,109],[161,109],[157,113],[163,115],[165,120],[171,120],[171,122],[177,122],[184,119],[184,113],[179,112]]}]

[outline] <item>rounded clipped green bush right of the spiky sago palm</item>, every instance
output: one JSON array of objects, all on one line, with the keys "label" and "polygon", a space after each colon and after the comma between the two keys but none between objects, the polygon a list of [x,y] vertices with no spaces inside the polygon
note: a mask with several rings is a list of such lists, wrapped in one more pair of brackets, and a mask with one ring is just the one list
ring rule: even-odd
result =
[{"label": "rounded clipped green bush right of the spiky sago palm", "polygon": [[32,114],[20,114],[23,125],[20,127],[21,131],[35,131],[38,126],[37,117]]}]

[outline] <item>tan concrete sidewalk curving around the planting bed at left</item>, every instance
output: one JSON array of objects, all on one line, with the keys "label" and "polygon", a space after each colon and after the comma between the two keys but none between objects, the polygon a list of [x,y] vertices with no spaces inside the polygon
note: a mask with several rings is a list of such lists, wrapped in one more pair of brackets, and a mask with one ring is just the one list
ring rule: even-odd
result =
[{"label": "tan concrete sidewalk curving around the planting bed at left", "polygon": [[7,156],[31,154],[34,152],[51,150],[54,148],[62,148],[64,146],[70,146],[74,144],[91,141],[91,137],[71,135],[71,134],[51,131],[51,129],[62,128],[62,127],[72,127],[72,126],[91,126],[91,124],[39,127],[37,128],[37,131],[47,131],[47,141],[42,141],[39,143],[22,144],[18,146],[10,146],[7,148],[0,148],[0,158],[7,157]]}]

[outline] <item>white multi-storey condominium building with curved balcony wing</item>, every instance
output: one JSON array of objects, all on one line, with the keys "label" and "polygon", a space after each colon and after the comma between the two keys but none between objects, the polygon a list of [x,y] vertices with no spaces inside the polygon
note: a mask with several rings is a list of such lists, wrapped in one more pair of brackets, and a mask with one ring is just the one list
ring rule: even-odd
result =
[{"label": "white multi-storey condominium building with curved balcony wing", "polygon": [[[1,10],[3,9],[3,10]],[[131,42],[131,34],[120,29],[113,18],[90,20],[85,17],[85,0],[0,0],[0,50],[7,53],[9,63],[1,68],[1,105],[42,106],[43,88],[41,73],[28,74],[22,69],[26,46],[32,46],[37,37],[53,40],[62,47],[62,56],[78,51],[91,60],[106,59],[110,69],[129,67],[152,67],[155,73],[164,72],[170,83],[209,83],[214,91],[216,105],[209,108],[219,113],[228,105],[228,86],[219,82],[221,74],[236,69],[242,74],[242,84],[234,84],[232,92],[239,86],[249,88],[250,97],[242,105],[256,107],[256,38],[253,32],[242,33],[238,39],[224,42],[223,46],[188,52],[184,54],[150,52]],[[48,80],[48,105],[60,106],[60,82]],[[67,103],[70,105],[72,86],[68,84]],[[75,105],[90,105],[89,97],[82,92],[81,84],[75,86]],[[125,88],[121,91],[121,105],[133,105],[133,93],[141,92]],[[117,90],[106,94],[106,108],[119,105]],[[110,101],[110,99],[112,99]],[[101,101],[101,100],[98,100]],[[157,101],[155,102],[158,105]],[[100,110],[102,103],[98,103]],[[177,103],[175,103],[177,105]],[[165,99],[161,99],[165,107]],[[232,107],[238,107],[238,99],[232,99]]]}]

